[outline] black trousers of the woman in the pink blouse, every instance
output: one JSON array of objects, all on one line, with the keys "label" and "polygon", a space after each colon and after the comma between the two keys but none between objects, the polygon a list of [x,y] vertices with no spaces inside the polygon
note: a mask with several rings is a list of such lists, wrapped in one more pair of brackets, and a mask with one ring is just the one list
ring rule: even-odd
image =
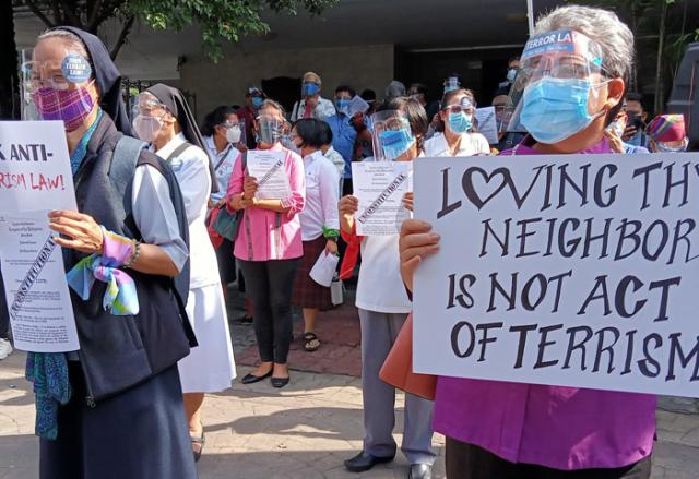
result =
[{"label": "black trousers of the woman in the pink blouse", "polygon": [[240,261],[254,308],[254,335],[262,362],[286,363],[293,331],[292,294],[300,261]]}]

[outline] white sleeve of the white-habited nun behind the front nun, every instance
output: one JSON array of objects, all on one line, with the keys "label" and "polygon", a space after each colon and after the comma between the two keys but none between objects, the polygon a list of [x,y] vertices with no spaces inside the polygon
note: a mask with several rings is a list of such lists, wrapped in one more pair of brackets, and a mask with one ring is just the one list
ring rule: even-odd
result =
[{"label": "white sleeve of the white-habited nun behind the front nun", "polygon": [[200,148],[190,146],[178,159],[182,163],[174,167],[174,170],[179,189],[182,191],[187,223],[191,225],[209,202],[211,193],[209,156]]}]

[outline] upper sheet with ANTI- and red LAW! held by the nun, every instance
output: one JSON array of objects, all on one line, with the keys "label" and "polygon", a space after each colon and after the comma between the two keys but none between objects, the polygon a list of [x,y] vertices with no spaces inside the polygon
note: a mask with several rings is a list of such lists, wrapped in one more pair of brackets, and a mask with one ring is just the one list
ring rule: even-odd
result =
[{"label": "upper sheet with ANTI- and red LAW! held by the nun", "polygon": [[76,209],[62,121],[0,121],[0,212]]}]

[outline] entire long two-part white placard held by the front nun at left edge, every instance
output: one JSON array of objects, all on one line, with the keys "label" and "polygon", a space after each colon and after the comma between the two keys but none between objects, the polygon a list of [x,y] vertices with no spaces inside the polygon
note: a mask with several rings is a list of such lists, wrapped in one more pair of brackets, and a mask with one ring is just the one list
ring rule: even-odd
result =
[{"label": "entire long two-part white placard held by the front nun at left edge", "polygon": [[0,121],[0,261],[17,349],[79,349],[50,209],[78,209],[62,121]]}]

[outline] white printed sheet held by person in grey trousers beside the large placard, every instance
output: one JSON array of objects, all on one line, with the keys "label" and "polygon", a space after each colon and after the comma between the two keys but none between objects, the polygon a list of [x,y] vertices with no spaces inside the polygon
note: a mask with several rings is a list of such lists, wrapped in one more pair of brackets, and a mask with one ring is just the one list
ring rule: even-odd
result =
[{"label": "white printed sheet held by person in grey trousers beside the large placard", "polygon": [[359,200],[355,215],[357,235],[390,236],[410,218],[403,196],[413,191],[412,161],[360,161],[352,164],[353,195]]}]

